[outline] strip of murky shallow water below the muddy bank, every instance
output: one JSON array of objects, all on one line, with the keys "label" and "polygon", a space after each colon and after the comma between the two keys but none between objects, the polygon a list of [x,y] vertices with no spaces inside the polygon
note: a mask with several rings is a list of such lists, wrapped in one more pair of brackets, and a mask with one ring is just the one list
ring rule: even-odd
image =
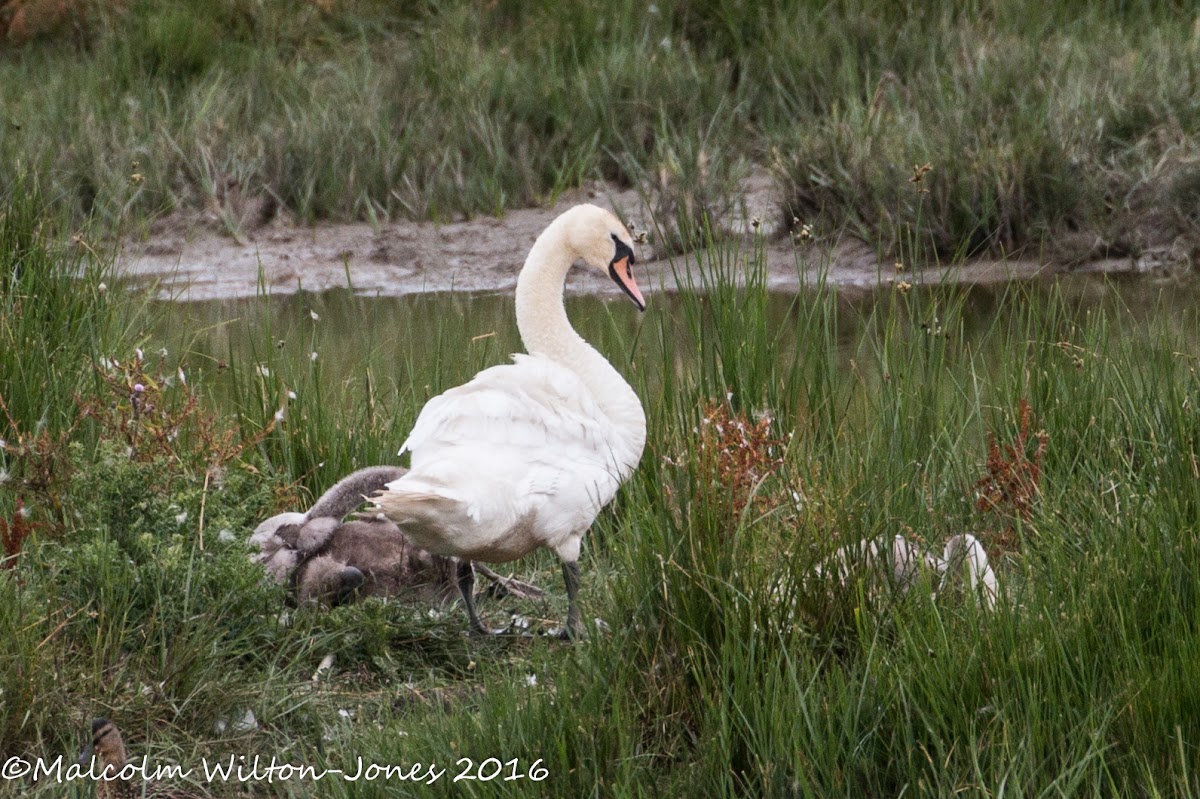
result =
[{"label": "strip of murky shallow water below the muddy bank", "polygon": [[[904,313],[922,317],[914,319],[917,324],[936,324],[940,305],[958,307],[961,302],[956,316],[962,320],[964,337],[970,341],[1016,307],[1004,301],[1014,290],[1031,298],[1058,290],[1081,319],[1100,307],[1123,310],[1115,318],[1123,319],[1121,324],[1130,329],[1151,318],[1166,317],[1177,320],[1189,341],[1200,336],[1192,326],[1194,317],[1189,317],[1200,308],[1200,280],[1195,276],[1064,276],[1009,286],[914,288],[908,298],[886,288],[839,292],[824,301],[836,305],[836,343],[848,358],[864,329],[872,324],[872,314],[875,322],[890,313]],[[816,292],[766,296],[767,325],[779,329],[780,356],[790,354],[790,346],[794,346],[786,335],[788,318],[798,307],[817,301],[817,296]],[[677,294],[649,298],[644,314],[619,295],[571,296],[566,305],[580,334],[620,368],[635,358],[654,362],[662,347],[656,341],[660,329],[676,334],[679,344],[686,340],[683,301]],[[494,293],[362,298],[348,290],[331,290],[170,304],[164,323],[154,338],[190,350],[193,368],[210,371],[222,361],[304,364],[312,362],[316,353],[325,379],[335,382],[361,376],[368,367],[377,372],[376,379],[402,382],[403,374],[424,374],[424,365],[434,361],[449,370],[439,378],[451,379],[457,374],[464,379],[479,368],[503,362],[510,353],[522,352],[512,299]],[[653,336],[642,335],[652,330]]]}]

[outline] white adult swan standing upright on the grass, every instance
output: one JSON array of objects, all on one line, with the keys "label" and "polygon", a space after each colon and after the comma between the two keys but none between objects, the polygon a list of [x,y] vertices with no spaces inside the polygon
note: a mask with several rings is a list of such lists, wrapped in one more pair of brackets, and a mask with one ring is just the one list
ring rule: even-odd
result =
[{"label": "white adult swan standing upright on the grass", "polygon": [[430,400],[400,450],[412,452],[412,469],[372,499],[415,546],[460,559],[458,589],[478,632],[497,631],[475,612],[470,561],[504,563],[539,547],[563,563],[562,635],[582,632],[580,542],[646,444],[637,395],[566,319],[563,286],[576,260],[646,310],[625,226],[595,205],[562,214],[517,277],[517,328],[529,354]]}]

